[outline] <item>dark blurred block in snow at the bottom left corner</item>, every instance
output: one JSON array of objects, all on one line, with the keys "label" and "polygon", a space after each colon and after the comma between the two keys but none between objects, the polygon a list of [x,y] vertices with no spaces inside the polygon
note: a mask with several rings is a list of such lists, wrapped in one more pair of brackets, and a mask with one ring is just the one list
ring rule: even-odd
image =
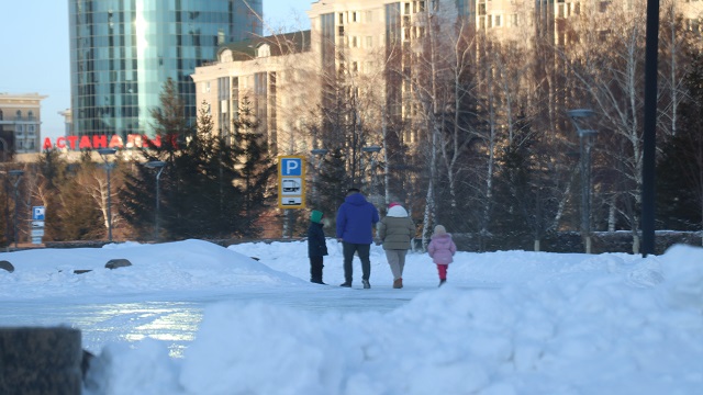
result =
[{"label": "dark blurred block in snow at the bottom left corner", "polygon": [[80,330],[0,328],[0,394],[80,395]]}]

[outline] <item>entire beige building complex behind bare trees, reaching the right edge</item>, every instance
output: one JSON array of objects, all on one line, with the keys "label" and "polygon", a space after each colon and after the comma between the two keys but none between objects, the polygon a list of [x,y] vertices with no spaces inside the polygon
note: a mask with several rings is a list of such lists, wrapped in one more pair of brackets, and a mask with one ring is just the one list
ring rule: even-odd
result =
[{"label": "entire beige building complex behind bare trees, reaching the right edge", "polygon": [[[701,31],[703,0],[674,0],[691,30]],[[587,10],[634,10],[645,0],[325,0],[311,3],[311,31],[230,44],[217,59],[192,75],[197,102],[210,110],[224,135],[245,100],[266,131],[275,153],[308,153],[316,146],[315,127],[325,128],[321,105],[330,106],[343,89],[358,100],[355,116],[380,127],[381,119],[409,119],[416,112],[411,78],[413,57],[427,26],[439,26],[436,38],[457,40],[456,26],[469,35],[522,43],[538,38],[557,46],[568,43],[566,21]],[[662,8],[666,1],[662,1]],[[432,12],[429,12],[432,11]],[[663,12],[663,11],[662,11]],[[433,14],[434,22],[428,20]],[[471,40],[471,38],[469,38]],[[451,44],[451,43],[449,43]],[[481,44],[479,44],[479,47]],[[488,54],[484,47],[479,54]],[[481,55],[477,55],[481,56]],[[305,129],[308,133],[302,133]],[[312,139],[312,140],[306,140]],[[415,138],[412,133],[408,142]]]}]

